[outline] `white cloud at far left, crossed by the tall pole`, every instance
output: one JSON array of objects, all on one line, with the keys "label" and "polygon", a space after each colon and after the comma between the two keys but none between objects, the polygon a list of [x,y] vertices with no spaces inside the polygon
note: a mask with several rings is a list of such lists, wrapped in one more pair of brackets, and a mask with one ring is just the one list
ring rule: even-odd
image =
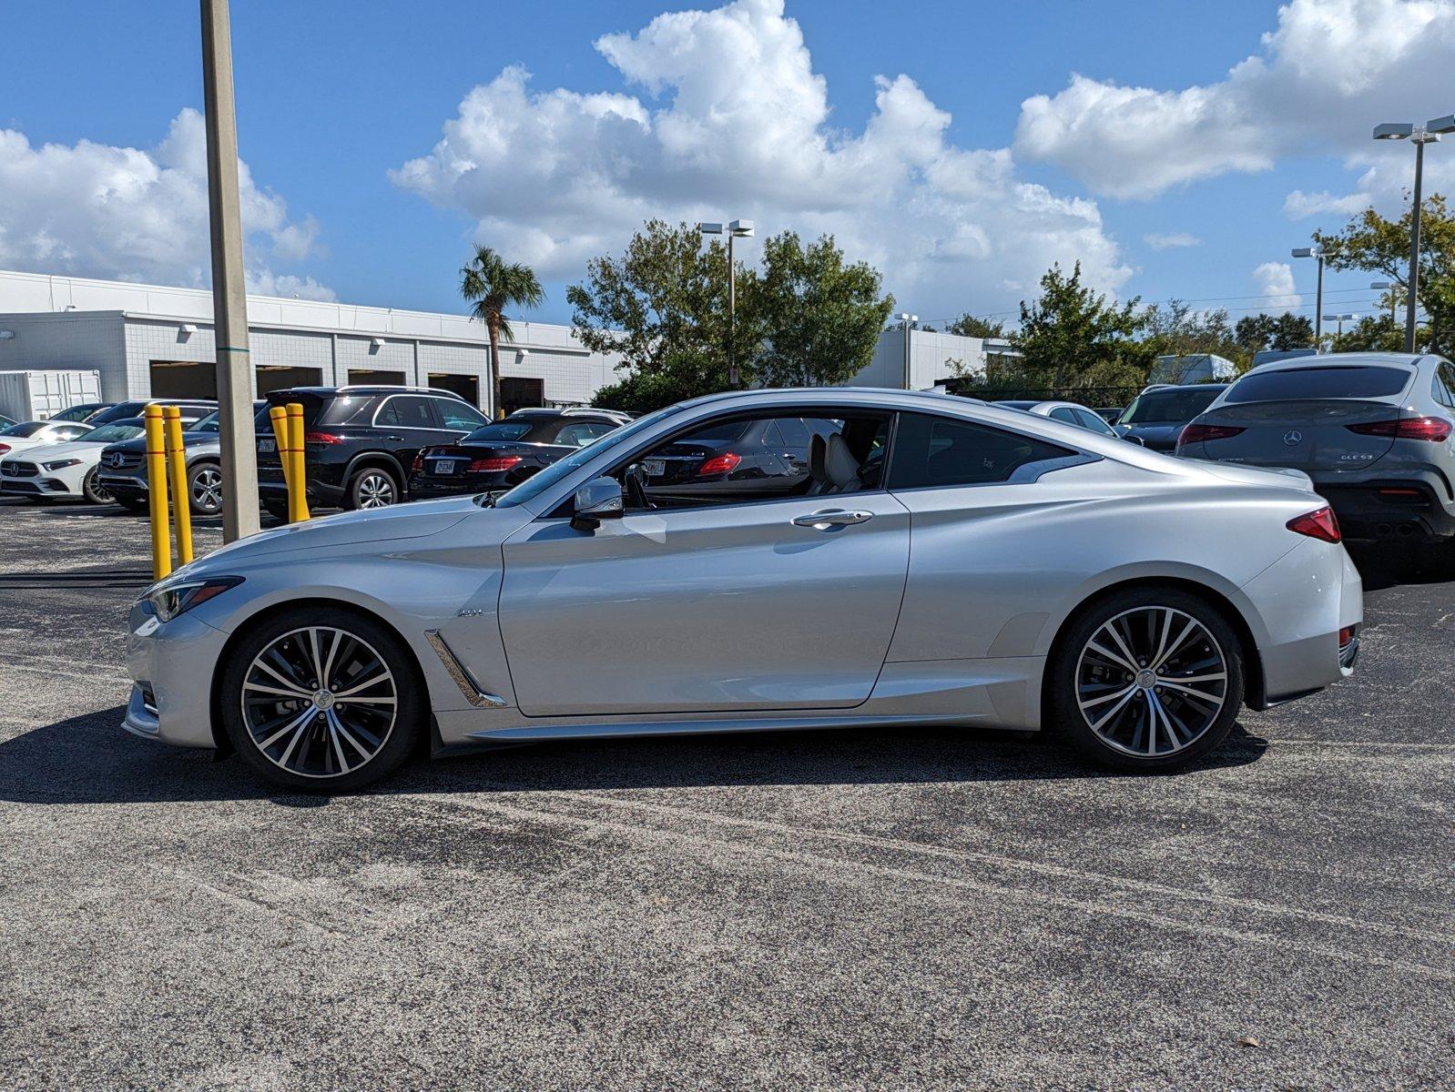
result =
[{"label": "white cloud at far left, crossed by the tall pole", "polygon": [[[249,291],[332,300],[313,278],[269,268],[269,259],[313,253],[317,222],[291,221],[246,163],[239,186]],[[0,268],[191,286],[210,282],[210,253],[207,135],[196,111],[178,113],[151,150],[87,140],[35,147],[0,129]]]}]

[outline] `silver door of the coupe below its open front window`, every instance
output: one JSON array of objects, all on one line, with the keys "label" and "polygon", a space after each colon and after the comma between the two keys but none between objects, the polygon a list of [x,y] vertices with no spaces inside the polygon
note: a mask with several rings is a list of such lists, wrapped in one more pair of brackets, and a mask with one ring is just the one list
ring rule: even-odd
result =
[{"label": "silver door of the coupe below its open front window", "polygon": [[[877,416],[860,432],[882,443]],[[908,510],[877,481],[809,494],[784,473],[773,494],[760,473],[736,494],[674,491],[595,531],[557,510],[506,539],[499,622],[522,712],[745,715],[869,696],[904,595]]]}]

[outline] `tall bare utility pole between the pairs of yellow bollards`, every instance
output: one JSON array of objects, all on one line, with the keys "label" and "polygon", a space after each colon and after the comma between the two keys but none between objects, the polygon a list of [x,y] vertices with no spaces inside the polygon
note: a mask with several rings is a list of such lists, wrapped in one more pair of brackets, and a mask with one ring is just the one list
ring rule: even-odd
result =
[{"label": "tall bare utility pole between the pairs of yellow bollards", "polygon": [[202,0],[202,102],[207,111],[207,204],[212,227],[217,423],[223,446],[223,541],[231,542],[256,534],[260,525],[227,0]]}]

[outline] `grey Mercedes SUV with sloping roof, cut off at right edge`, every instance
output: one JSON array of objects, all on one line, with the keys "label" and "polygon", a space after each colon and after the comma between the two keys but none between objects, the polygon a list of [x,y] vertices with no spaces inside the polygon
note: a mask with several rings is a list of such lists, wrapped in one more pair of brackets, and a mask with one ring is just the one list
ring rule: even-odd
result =
[{"label": "grey Mercedes SUV with sloping roof, cut off at right edge", "polygon": [[1337,353],[1261,365],[1183,429],[1179,455],[1292,467],[1350,538],[1455,537],[1455,366]]}]

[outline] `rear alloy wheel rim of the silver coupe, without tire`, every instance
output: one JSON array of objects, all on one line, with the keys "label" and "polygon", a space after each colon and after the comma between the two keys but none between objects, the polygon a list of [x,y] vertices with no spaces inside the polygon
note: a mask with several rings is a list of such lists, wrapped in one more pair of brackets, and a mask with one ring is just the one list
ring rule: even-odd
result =
[{"label": "rear alloy wheel rim of the silver coupe, without tire", "polygon": [[1195,617],[1136,606],[1103,622],[1077,660],[1077,705],[1096,736],[1136,758],[1192,746],[1218,720],[1228,662]]}]

